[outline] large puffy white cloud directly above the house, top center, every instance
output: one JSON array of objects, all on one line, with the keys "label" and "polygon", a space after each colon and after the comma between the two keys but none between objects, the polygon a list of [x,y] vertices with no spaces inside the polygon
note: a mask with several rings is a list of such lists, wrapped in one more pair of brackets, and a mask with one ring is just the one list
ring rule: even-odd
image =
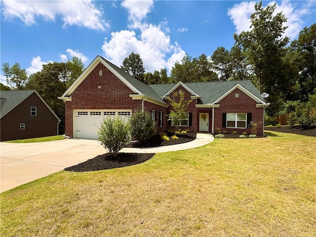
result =
[{"label": "large puffy white cloud directly above the house, top center", "polygon": [[[105,57],[119,66],[124,58],[134,52],[140,55],[146,72],[161,68],[170,72],[174,66],[172,62],[180,61],[185,52],[177,43],[170,43],[170,30],[166,21],[160,22],[159,25],[147,24],[144,21],[154,6],[153,1],[125,0],[122,6],[128,10],[131,31],[113,32],[110,40],[105,38],[102,46]],[[136,35],[138,31],[140,34]]]}]

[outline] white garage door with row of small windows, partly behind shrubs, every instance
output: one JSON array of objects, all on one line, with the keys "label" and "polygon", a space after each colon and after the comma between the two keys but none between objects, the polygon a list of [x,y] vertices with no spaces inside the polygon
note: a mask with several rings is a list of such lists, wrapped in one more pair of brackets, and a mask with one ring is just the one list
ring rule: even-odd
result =
[{"label": "white garage door with row of small windows, partly behind shrubs", "polygon": [[97,138],[97,131],[101,127],[101,122],[104,117],[122,116],[129,118],[130,110],[115,111],[115,110],[75,110],[74,111],[74,137],[77,138]]}]

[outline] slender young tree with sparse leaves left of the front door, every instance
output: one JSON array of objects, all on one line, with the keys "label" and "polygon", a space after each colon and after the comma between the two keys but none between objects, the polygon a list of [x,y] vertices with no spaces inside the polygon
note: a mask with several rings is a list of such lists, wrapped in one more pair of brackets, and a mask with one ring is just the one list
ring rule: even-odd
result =
[{"label": "slender young tree with sparse leaves left of the front door", "polygon": [[[180,96],[180,99],[178,97]],[[168,121],[171,121],[171,125],[174,126],[174,131],[178,131],[179,126],[181,125],[181,120],[186,119],[186,111],[188,109],[188,105],[192,102],[192,100],[186,100],[184,98],[184,92],[181,91],[178,93],[177,91],[173,93],[172,98],[169,99],[171,109],[168,115]]]}]

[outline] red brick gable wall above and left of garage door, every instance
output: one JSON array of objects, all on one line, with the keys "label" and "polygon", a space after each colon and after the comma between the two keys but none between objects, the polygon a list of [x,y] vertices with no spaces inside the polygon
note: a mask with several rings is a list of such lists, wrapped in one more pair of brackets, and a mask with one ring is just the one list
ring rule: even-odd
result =
[{"label": "red brick gable wall above and left of garage door", "polygon": [[[99,70],[102,70],[102,76],[99,76]],[[65,134],[73,137],[73,110],[141,109],[142,100],[133,100],[129,96],[133,93],[99,63],[71,94],[72,101],[66,101]]]}]

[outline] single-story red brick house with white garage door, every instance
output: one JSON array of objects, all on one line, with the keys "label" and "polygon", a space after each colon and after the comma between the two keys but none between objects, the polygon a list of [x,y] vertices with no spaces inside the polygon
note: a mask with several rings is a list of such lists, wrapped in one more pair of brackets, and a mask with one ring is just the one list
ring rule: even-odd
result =
[{"label": "single-story red brick house with white garage door", "polygon": [[264,108],[269,104],[249,80],[146,85],[120,68],[97,56],[59,99],[66,103],[65,135],[96,138],[104,116],[130,117],[136,110],[149,111],[157,132],[172,129],[167,121],[169,98],[183,91],[188,106],[181,129],[216,133],[246,131],[250,121],[258,123],[263,134]]}]

